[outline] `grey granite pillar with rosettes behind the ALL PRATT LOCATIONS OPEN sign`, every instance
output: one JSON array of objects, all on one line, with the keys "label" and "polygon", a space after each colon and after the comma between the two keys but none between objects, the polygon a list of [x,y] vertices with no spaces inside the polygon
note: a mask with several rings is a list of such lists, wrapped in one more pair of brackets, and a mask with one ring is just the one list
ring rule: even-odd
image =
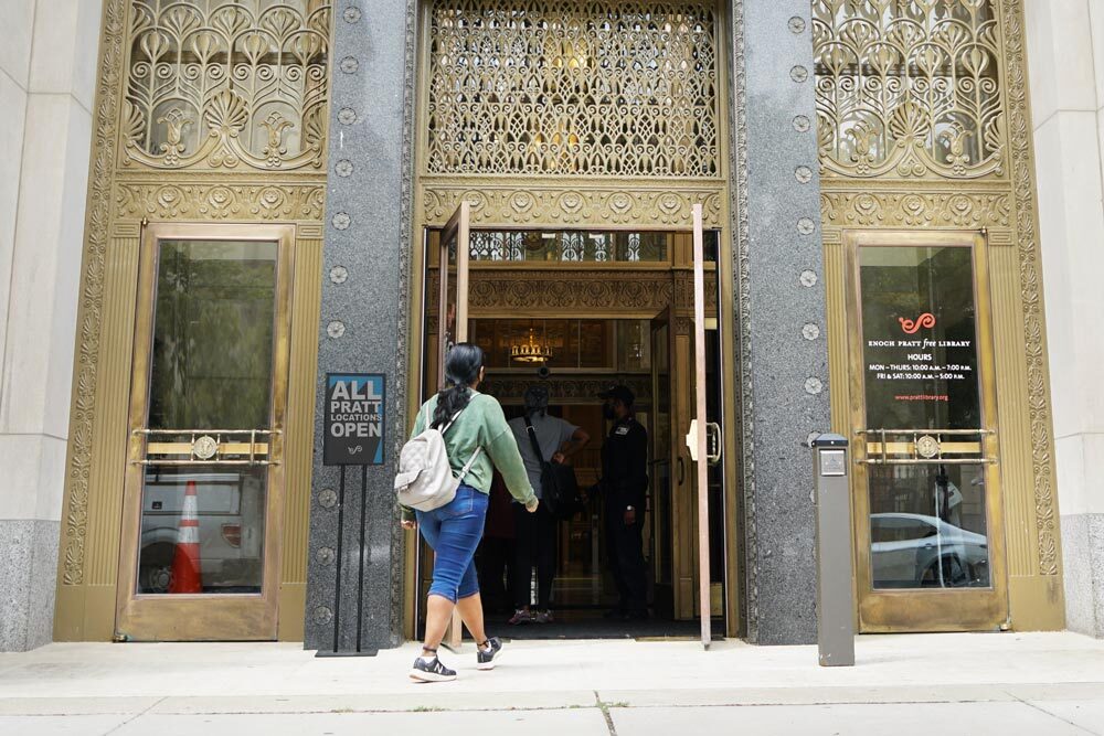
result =
[{"label": "grey granite pillar with rosettes behind the ALL PRATT LOCATIONS OPEN sign", "polygon": [[[357,0],[335,15],[305,639],[307,649],[351,652],[397,646],[402,626],[393,483],[406,433],[415,13],[397,0]],[[322,465],[323,383],[338,372],[386,375],[383,466]]]}]

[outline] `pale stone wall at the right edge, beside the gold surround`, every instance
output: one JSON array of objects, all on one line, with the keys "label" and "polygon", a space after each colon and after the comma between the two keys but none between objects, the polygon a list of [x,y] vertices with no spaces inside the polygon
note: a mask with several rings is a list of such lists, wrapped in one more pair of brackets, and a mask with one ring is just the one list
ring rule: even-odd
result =
[{"label": "pale stone wall at the right edge, beside the gold surround", "polygon": [[1066,625],[1104,637],[1104,0],[1026,0]]}]

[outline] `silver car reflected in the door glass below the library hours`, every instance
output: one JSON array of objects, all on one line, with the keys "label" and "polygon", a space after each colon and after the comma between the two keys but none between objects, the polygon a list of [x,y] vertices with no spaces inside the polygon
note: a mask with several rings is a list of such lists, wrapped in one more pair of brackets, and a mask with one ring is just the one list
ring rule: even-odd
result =
[{"label": "silver car reflected in the door glass below the library hours", "polygon": [[983,534],[937,516],[870,515],[875,588],[956,588],[989,585],[989,550]]}]

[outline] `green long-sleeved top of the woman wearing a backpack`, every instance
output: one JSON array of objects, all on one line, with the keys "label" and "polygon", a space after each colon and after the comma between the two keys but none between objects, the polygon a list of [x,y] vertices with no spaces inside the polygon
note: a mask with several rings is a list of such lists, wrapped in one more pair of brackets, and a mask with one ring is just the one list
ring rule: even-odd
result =
[{"label": "green long-sleeved top of the woman wearing a backpack", "polygon": [[[422,405],[414,422],[412,438],[417,437],[429,427],[436,408],[436,396],[431,397]],[[510,429],[510,425],[506,422],[506,415],[502,414],[502,406],[493,396],[473,391],[467,407],[445,433],[448,465],[452,466],[455,474],[459,474],[477,447],[482,447],[484,451],[476,458],[468,474],[465,476],[464,483],[466,486],[484,493],[490,493],[495,468],[498,468],[513,498],[521,503],[529,503],[537,498],[533,487],[529,482],[529,473],[526,472],[521,454],[518,451],[518,441],[513,437],[513,430]],[[413,518],[413,512],[403,509],[403,515],[410,519]]]}]

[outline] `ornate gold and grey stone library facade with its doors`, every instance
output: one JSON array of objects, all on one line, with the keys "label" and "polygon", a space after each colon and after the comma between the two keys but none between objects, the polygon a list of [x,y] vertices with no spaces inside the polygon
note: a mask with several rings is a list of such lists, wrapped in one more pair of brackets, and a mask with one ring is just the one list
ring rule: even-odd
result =
[{"label": "ornate gold and grey stone library facade with its doors", "polygon": [[[1097,2],[59,4],[0,57],[6,648],[415,637],[393,460],[458,340],[585,483],[636,394],[651,633],[815,639],[825,431],[860,631],[1104,633]],[[565,636],[603,526],[561,524]]]}]

